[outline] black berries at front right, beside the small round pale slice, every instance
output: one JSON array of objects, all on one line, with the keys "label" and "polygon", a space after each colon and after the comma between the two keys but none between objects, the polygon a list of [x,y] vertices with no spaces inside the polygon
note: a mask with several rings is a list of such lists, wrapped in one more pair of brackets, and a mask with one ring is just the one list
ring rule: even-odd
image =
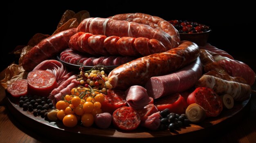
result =
[{"label": "black berries at front right, beside the small round pale slice", "polygon": [[159,126],[160,130],[166,130],[167,128],[170,131],[177,130],[182,126],[189,125],[189,119],[187,119],[186,114],[175,114],[170,113],[169,109],[166,108],[160,112],[161,124]]}]

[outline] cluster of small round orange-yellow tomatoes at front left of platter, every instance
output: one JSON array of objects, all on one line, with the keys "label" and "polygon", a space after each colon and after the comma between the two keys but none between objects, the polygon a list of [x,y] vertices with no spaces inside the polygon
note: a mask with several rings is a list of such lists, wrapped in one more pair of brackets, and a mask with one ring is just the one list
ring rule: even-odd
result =
[{"label": "cluster of small round orange-yellow tomatoes at front left of platter", "polygon": [[73,88],[71,95],[65,95],[63,100],[56,103],[56,110],[48,113],[48,119],[51,120],[53,114],[56,114],[57,119],[66,127],[72,128],[79,121],[83,126],[90,127],[94,123],[95,115],[102,113],[101,103],[104,101],[104,95],[92,88]]}]

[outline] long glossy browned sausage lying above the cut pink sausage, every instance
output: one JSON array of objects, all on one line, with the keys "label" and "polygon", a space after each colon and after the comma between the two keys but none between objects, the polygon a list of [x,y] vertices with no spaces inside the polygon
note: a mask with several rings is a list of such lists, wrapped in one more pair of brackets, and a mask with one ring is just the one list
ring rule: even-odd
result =
[{"label": "long glossy browned sausage lying above the cut pink sausage", "polygon": [[180,46],[164,53],[141,57],[123,64],[110,72],[108,79],[113,88],[127,89],[144,86],[150,77],[165,75],[193,62],[199,55],[196,44],[183,41]]}]

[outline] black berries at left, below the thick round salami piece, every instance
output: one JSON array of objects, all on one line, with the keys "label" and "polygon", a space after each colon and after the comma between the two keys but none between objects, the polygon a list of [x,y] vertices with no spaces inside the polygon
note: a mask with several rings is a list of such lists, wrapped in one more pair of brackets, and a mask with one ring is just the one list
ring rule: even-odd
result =
[{"label": "black berries at left, below the thick round salami piece", "polygon": [[23,108],[23,111],[33,112],[34,116],[47,117],[48,110],[55,109],[51,99],[47,97],[41,97],[37,95],[26,95],[20,97],[19,106]]}]

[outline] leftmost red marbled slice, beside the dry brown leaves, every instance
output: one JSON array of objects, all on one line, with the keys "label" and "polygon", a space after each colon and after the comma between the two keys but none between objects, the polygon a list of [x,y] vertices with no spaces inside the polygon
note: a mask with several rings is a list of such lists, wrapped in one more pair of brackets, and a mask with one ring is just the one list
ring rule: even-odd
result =
[{"label": "leftmost red marbled slice, beside the dry brown leaves", "polygon": [[11,85],[8,86],[7,91],[13,97],[20,97],[27,95],[27,79],[20,79],[13,81]]}]

